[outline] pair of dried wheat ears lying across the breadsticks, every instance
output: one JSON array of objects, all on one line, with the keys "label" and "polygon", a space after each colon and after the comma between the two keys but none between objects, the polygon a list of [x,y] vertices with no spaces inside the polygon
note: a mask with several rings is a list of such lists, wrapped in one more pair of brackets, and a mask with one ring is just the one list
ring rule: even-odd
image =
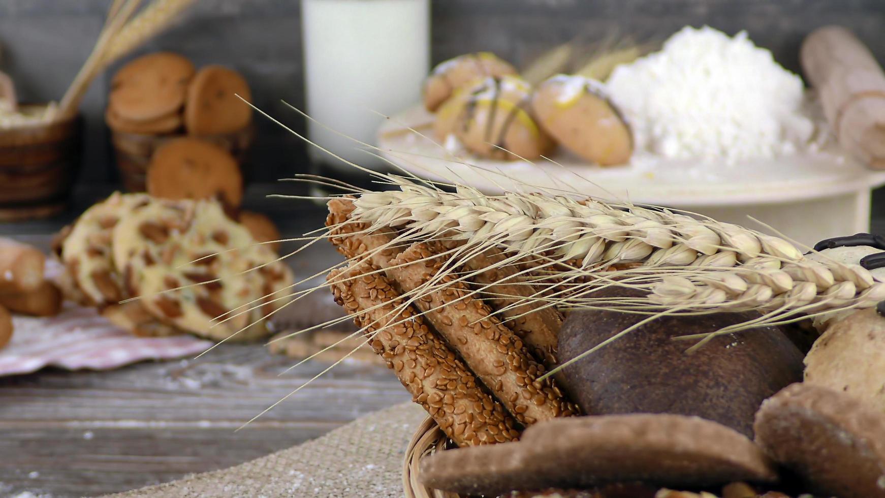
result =
[{"label": "pair of dried wheat ears lying across the breadsticks", "polygon": [[[512,301],[498,311],[502,314],[528,304],[535,310],[605,306],[650,315],[765,312],[721,331],[726,333],[885,299],[885,284],[858,264],[805,257],[782,238],[711,218],[566,195],[483,195],[464,186],[446,192],[427,182],[388,178],[398,189],[358,195],[349,222],[370,233],[396,230],[395,243],[448,241],[454,263],[441,271],[464,280],[479,274],[465,272],[466,262],[497,251],[503,256],[490,269],[503,268],[509,278],[516,275],[536,289],[531,295],[495,295]],[[594,297],[608,286],[649,294]]]}]

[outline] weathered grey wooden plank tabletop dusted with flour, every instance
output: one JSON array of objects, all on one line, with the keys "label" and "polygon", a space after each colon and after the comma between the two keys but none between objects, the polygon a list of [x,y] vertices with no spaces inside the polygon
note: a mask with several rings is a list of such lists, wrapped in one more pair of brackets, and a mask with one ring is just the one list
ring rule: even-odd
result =
[{"label": "weathered grey wooden plank tabletop dusted with flour", "polygon": [[[323,219],[310,206],[264,211],[289,236]],[[0,225],[0,233],[45,245],[55,228]],[[336,258],[317,244],[290,263],[304,276]],[[90,496],[220,469],[409,399],[386,368],[345,363],[235,432],[328,366],[309,362],[279,376],[295,361],[260,344],[222,345],[196,360],[0,379],[0,496]]]}]

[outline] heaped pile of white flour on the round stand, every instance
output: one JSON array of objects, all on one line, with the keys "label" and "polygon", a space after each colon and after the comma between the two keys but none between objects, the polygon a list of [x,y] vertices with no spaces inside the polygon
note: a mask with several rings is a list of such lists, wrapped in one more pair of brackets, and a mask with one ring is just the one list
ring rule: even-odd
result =
[{"label": "heaped pile of white flour on the round stand", "polygon": [[606,83],[637,150],[672,158],[788,155],[812,140],[802,80],[746,32],[684,27]]}]

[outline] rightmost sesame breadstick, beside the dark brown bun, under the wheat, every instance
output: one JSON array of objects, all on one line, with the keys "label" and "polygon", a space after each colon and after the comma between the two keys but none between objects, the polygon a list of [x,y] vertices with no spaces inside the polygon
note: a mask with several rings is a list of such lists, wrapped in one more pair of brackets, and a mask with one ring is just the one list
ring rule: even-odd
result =
[{"label": "rightmost sesame breadstick, beside the dark brown bun, under the wheat", "polygon": [[[442,242],[447,248],[456,247],[457,241]],[[464,268],[473,274],[473,282],[483,287],[482,300],[489,303],[493,310],[501,311],[497,316],[504,317],[504,325],[515,332],[528,348],[534,353],[535,359],[547,368],[557,364],[556,349],[559,329],[562,328],[563,317],[558,310],[542,308],[539,303],[519,303],[520,297],[537,296],[537,288],[526,283],[519,273],[519,265],[502,265],[507,259],[499,249],[486,249],[481,254],[468,259]],[[496,268],[491,268],[496,266]],[[514,297],[504,297],[504,296]],[[540,308],[540,309],[539,309]]]}]

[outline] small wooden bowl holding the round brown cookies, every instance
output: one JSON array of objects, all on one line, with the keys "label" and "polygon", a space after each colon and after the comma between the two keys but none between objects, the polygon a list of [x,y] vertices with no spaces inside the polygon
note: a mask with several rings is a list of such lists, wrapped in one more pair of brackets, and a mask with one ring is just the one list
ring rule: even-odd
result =
[{"label": "small wooden bowl holding the round brown cookies", "polygon": [[111,130],[111,142],[117,160],[120,179],[123,187],[129,192],[143,192],[147,178],[150,157],[161,145],[170,140],[191,136],[206,142],[212,142],[227,149],[242,167],[252,140],[255,127],[246,126],[230,134],[219,135],[185,135],[185,134],[130,134]]}]

